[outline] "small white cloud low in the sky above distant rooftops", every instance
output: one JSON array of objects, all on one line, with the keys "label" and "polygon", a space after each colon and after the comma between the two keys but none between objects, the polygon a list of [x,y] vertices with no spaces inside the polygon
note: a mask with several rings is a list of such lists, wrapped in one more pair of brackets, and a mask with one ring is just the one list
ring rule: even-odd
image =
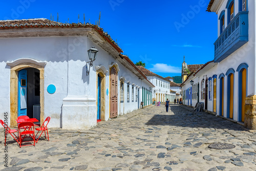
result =
[{"label": "small white cloud low in the sky above distant rooftops", "polygon": [[160,73],[181,73],[180,67],[168,66],[165,63],[156,63],[155,65],[153,65],[153,68],[150,68],[148,70]]}]

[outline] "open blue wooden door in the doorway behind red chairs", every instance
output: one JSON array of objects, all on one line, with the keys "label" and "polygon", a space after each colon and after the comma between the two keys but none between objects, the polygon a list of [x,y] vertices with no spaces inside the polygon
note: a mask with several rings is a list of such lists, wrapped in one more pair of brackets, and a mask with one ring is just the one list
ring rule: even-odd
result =
[{"label": "open blue wooden door in the doorway behind red chairs", "polygon": [[27,70],[18,72],[18,116],[27,115]]}]

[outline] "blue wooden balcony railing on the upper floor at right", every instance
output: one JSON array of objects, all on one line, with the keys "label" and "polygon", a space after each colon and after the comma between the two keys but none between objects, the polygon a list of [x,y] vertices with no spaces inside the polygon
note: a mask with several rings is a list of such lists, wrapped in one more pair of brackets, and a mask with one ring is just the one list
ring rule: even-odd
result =
[{"label": "blue wooden balcony railing on the upper floor at right", "polygon": [[215,62],[220,62],[248,42],[248,11],[239,12],[215,41]]}]

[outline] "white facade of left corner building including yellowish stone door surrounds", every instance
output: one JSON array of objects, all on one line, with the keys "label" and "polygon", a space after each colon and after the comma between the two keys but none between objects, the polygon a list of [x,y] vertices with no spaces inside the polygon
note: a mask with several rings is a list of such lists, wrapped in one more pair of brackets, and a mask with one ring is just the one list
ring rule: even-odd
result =
[{"label": "white facade of left corner building including yellowish stone door surrounds", "polygon": [[[92,46],[99,52],[87,75],[90,67],[87,64],[90,61],[87,51]],[[154,87],[130,64],[130,59],[120,57],[114,45],[93,27],[86,25],[73,29],[44,27],[1,30],[0,51],[0,112],[8,113],[9,125],[15,125],[14,119],[18,115],[17,74],[23,69],[35,68],[40,71],[40,122],[50,116],[49,127],[90,129],[97,124],[98,103],[101,120],[110,119],[112,68],[117,71],[117,115],[139,109],[143,98],[142,89],[150,95],[149,90]],[[100,96],[98,74],[101,74]],[[122,81],[123,101],[120,99]],[[129,93],[127,84],[130,84]],[[54,93],[48,92],[49,85],[56,88]],[[27,91],[34,91],[30,89],[29,83]],[[127,100],[128,94],[130,100]],[[147,101],[146,105],[151,104],[149,96],[144,100]],[[0,119],[4,120],[4,116],[0,116]]]}]

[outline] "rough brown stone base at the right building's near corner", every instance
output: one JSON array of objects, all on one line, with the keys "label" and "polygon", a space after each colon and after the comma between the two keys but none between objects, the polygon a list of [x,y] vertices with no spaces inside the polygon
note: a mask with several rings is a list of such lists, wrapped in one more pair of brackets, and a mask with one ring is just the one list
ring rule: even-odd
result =
[{"label": "rough brown stone base at the right building's near corner", "polygon": [[246,97],[244,126],[256,130],[256,95]]}]

